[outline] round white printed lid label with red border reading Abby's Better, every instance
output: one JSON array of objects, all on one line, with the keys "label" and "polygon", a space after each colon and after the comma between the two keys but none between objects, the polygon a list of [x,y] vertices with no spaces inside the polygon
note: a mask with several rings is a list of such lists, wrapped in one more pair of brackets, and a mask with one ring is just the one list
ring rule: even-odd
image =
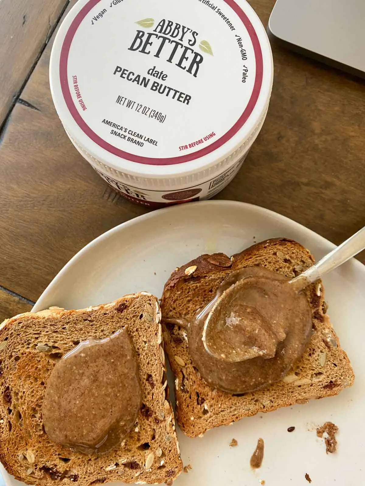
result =
[{"label": "round white printed lid label with red border reading Abby's Better", "polygon": [[59,52],[73,120],[134,162],[187,162],[221,147],[250,118],[263,78],[241,4],[79,0]]}]

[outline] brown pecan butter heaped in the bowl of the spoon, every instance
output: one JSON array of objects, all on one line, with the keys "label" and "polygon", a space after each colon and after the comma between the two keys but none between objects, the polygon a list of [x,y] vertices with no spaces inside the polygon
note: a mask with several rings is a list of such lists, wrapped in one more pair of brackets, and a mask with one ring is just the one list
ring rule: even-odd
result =
[{"label": "brown pecan butter heaped in the bowl of the spoon", "polygon": [[[242,278],[231,285],[206,318],[205,349],[229,362],[258,356],[274,358],[289,327],[283,314],[291,304],[286,302],[281,287],[277,280],[255,277]],[[269,315],[272,320],[268,320]]]}]

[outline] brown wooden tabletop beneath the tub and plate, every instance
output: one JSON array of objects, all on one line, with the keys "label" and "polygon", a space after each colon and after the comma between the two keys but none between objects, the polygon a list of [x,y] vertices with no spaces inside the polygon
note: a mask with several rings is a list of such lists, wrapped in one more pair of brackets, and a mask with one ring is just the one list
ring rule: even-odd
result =
[{"label": "brown wooden tabletop beneath the tub and plate", "polygon": [[[55,113],[52,32],[73,3],[0,0],[0,320],[29,310],[86,243],[146,212],[106,186]],[[274,0],[250,3],[267,25]],[[273,52],[267,119],[217,198],[272,209],[341,243],[365,224],[365,83]]]}]

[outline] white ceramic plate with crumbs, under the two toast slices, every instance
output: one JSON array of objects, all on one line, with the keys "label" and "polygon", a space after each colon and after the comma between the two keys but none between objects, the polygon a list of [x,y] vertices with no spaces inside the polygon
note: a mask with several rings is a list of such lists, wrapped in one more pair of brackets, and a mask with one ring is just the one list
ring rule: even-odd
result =
[{"label": "white ceramic plate with crumbs, under the two toast slices", "polygon": [[[81,250],[38,299],[34,311],[52,305],[78,309],[148,290],[161,296],[170,272],[202,253],[236,253],[267,238],[297,240],[318,259],[334,246],[267,209],[233,201],[208,201],[151,212],[111,229]],[[329,316],[356,373],[355,385],[338,397],[313,400],[240,420],[190,439],[178,431],[183,462],[176,486],[363,485],[365,470],[365,267],[350,260],[324,278]],[[326,454],[315,428],[339,427],[338,452]],[[295,431],[287,429],[295,426]],[[250,469],[257,438],[265,441],[261,469]],[[238,447],[230,448],[232,438]],[[8,486],[15,480],[5,474]],[[263,484],[263,483],[262,483]]]}]

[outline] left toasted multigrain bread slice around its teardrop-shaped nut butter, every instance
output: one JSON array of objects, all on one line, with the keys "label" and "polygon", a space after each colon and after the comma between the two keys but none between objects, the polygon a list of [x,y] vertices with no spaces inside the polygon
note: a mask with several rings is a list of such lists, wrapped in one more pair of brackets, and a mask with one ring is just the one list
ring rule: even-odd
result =
[{"label": "left toasted multigrain bread slice around its teardrop-shaped nut butter", "polygon": [[[142,292],[79,311],[27,312],[1,324],[0,461],[10,474],[46,486],[114,480],[172,483],[182,461],[168,401],[160,318],[156,297]],[[126,324],[143,396],[134,430],[100,455],[83,455],[51,442],[41,407],[55,363],[79,341],[108,337]]]}]

